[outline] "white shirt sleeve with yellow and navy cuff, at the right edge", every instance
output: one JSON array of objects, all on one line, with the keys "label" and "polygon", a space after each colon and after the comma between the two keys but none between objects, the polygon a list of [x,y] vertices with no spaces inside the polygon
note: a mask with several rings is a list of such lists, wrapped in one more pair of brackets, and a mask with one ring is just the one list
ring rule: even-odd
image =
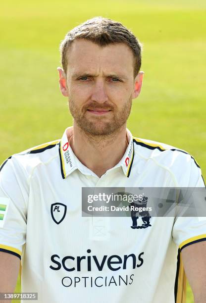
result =
[{"label": "white shirt sleeve with yellow and navy cuff, at the right edge", "polygon": [[[190,178],[187,187],[202,187],[205,182],[198,163],[191,157]],[[205,214],[204,214],[205,215]],[[183,248],[206,240],[206,217],[177,217],[173,225],[172,237],[180,252]]]}]

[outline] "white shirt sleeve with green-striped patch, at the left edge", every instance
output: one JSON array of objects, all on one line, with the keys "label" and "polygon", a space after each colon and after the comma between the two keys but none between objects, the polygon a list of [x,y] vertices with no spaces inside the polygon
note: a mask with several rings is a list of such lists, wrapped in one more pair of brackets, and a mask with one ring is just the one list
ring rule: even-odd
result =
[{"label": "white shirt sleeve with green-striped patch, at the left edge", "polygon": [[28,186],[15,159],[0,167],[0,251],[21,259],[26,242]]}]

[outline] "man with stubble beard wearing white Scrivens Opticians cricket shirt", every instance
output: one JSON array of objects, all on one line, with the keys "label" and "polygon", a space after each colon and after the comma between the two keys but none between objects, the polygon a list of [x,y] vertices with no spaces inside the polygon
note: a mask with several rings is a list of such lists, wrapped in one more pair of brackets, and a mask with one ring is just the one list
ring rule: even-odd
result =
[{"label": "man with stubble beard wearing white Scrivens Opticians cricket shirt", "polygon": [[143,81],[140,43],[96,17],[60,51],[73,126],[1,166],[0,291],[14,291],[21,259],[22,292],[41,303],[183,302],[183,261],[195,303],[206,302],[205,221],[133,217],[131,228],[131,217],[82,217],[83,187],[204,186],[190,154],[126,129]]}]

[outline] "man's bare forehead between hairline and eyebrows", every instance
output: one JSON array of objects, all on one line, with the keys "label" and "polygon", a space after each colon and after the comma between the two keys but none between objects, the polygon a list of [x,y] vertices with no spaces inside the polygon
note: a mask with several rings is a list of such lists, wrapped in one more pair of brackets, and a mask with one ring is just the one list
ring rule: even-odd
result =
[{"label": "man's bare forehead between hairline and eyebrows", "polygon": [[71,74],[92,74],[103,68],[106,74],[133,73],[134,56],[124,43],[109,44],[104,47],[80,39],[74,41],[68,50],[68,69]]}]

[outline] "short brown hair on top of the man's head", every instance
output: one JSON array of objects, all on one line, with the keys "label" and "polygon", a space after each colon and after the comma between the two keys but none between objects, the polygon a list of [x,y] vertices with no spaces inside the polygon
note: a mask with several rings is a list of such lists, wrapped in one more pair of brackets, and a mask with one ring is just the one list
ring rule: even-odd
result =
[{"label": "short brown hair on top of the man's head", "polygon": [[125,43],[134,54],[134,77],[141,67],[142,45],[133,33],[121,23],[103,17],[94,17],[69,31],[60,43],[61,64],[67,73],[67,50],[77,39],[86,39],[101,47],[114,43]]}]

